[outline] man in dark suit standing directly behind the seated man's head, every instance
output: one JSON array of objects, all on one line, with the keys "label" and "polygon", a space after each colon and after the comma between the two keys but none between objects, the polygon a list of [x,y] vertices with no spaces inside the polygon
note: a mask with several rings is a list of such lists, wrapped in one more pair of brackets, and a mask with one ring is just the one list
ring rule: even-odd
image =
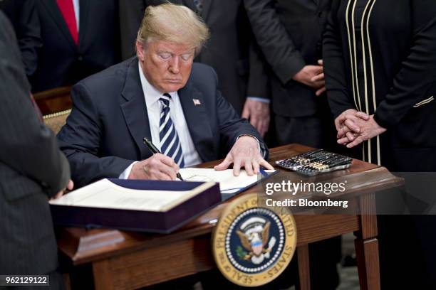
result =
[{"label": "man in dark suit standing directly behind the seated man's head", "polygon": [[[135,53],[137,28],[149,5],[165,0],[120,2],[120,26],[123,58]],[[250,119],[261,136],[269,129],[268,77],[264,60],[256,48],[242,0],[172,0],[187,6],[210,28],[211,34],[195,62],[210,65],[217,72],[219,90],[238,114]]]}]

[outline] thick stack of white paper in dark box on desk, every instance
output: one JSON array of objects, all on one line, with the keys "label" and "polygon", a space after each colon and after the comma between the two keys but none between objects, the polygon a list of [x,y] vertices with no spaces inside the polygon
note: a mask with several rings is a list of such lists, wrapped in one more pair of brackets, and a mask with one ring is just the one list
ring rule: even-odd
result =
[{"label": "thick stack of white paper in dark box on desk", "polygon": [[112,208],[121,210],[166,211],[214,186],[204,183],[192,190],[138,190],[124,188],[102,179],[56,200],[52,205],[73,205],[89,208]]}]

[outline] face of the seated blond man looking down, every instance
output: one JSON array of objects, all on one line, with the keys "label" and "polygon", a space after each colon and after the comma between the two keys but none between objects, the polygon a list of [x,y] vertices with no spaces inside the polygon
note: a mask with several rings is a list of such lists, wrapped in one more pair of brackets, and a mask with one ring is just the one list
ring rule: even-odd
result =
[{"label": "face of the seated blond man looking down", "polygon": [[139,42],[137,55],[148,82],[160,92],[175,92],[185,87],[191,74],[194,48],[170,41]]}]

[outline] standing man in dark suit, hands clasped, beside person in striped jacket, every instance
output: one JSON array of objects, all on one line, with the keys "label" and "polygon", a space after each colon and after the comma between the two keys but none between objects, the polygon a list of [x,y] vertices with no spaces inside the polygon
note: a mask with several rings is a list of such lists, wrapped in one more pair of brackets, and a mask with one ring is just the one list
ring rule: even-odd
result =
[{"label": "standing man in dark suit, hands clasped, beside person in striped jacket", "polygon": [[[336,149],[324,87],[321,36],[331,0],[244,0],[271,68],[271,102],[279,144]],[[341,240],[311,244],[312,289],[336,289]]]}]

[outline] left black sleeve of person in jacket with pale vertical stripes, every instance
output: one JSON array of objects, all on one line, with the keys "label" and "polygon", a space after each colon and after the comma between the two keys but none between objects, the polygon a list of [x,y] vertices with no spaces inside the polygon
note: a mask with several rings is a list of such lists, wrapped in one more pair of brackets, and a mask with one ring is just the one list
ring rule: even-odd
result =
[{"label": "left black sleeve of person in jacket with pale vertical stripes", "polygon": [[349,96],[343,45],[338,29],[336,14],[339,0],[333,2],[331,14],[328,17],[326,31],[323,36],[323,65],[326,77],[328,104],[336,118],[347,109],[355,109]]}]

